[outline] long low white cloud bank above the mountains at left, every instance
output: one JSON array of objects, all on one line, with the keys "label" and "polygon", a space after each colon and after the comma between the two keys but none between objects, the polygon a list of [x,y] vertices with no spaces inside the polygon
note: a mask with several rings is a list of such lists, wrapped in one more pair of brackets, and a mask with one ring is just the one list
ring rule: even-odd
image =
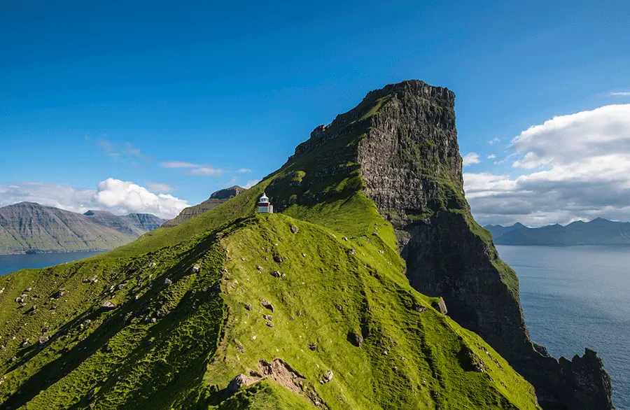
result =
[{"label": "long low white cloud bank above the mountains at left", "polygon": [[127,213],[153,213],[160,218],[174,218],[188,202],[172,195],[159,194],[131,182],[108,178],[96,190],[76,189],[43,182],[24,182],[0,186],[0,206],[18,202],[36,202],[67,211],[87,210]]}]

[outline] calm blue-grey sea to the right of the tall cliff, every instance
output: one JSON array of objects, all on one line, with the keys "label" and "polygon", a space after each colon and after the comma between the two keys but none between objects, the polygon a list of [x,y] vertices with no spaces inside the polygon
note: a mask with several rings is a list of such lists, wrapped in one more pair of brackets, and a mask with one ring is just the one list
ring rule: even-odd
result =
[{"label": "calm blue-grey sea to the right of the tall cliff", "polygon": [[520,281],[531,339],[555,358],[592,348],[630,410],[630,246],[497,246]]}]

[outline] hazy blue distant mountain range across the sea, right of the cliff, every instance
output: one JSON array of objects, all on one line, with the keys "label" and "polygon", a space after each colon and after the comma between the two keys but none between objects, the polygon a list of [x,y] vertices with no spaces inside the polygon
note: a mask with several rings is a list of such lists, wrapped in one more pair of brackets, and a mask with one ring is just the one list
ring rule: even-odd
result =
[{"label": "hazy blue distant mountain range across the sea, right of the cliff", "polygon": [[630,222],[614,222],[596,218],[590,222],[578,220],[568,225],[547,225],[530,228],[521,223],[510,227],[484,226],[497,245],[630,245]]}]

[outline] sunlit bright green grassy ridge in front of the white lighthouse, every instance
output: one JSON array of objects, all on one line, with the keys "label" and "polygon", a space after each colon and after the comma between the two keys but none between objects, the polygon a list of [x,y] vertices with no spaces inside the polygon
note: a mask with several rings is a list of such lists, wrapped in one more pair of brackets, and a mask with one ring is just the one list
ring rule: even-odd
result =
[{"label": "sunlit bright green grassy ridge in front of the white lighthouse", "polygon": [[[285,215],[246,223],[225,240],[230,318],[209,384],[221,388],[225,374],[282,358],[331,409],[536,408],[533,389],[505,360],[412,290],[402,260],[378,236],[345,241]],[[273,255],[286,260],[274,262]],[[276,270],[286,276],[272,276]],[[273,316],[274,327],[263,314]],[[363,345],[351,344],[349,333],[363,334]],[[485,371],[475,371],[475,362]],[[335,377],[318,385],[328,369]]]}]

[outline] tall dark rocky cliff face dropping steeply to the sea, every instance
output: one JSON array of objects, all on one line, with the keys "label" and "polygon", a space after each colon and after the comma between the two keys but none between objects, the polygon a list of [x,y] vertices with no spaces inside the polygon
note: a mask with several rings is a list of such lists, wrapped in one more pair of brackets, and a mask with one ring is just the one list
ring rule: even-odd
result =
[{"label": "tall dark rocky cliff face dropping steeply to the sea", "polygon": [[[336,165],[311,176],[310,186],[317,178],[358,171],[363,191],[396,229],[412,286],[444,297],[449,316],[507,358],[535,386],[545,410],[612,409],[610,377],[594,352],[557,361],[529,339],[518,279],[465,201],[454,101],[453,92],[418,80],[388,85],[317,127],[293,159],[312,151]],[[330,141],[342,143],[337,150],[313,150]],[[295,181],[300,185],[300,175]]]}]

